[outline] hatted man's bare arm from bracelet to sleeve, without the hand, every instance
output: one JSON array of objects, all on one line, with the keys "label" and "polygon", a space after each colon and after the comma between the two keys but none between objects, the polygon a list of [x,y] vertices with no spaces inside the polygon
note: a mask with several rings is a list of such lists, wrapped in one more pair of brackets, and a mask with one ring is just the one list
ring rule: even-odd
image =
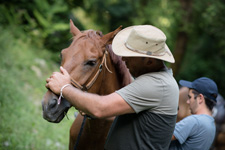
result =
[{"label": "hatted man's bare arm from bracelet to sleeve, without the hand", "polygon": [[130,105],[115,92],[110,95],[99,96],[68,86],[63,90],[63,95],[75,108],[97,118],[134,113]]}]

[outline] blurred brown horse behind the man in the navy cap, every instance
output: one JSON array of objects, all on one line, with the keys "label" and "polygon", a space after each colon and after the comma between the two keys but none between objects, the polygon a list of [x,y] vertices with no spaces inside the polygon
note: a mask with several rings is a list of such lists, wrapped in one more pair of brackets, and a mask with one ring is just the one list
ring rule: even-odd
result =
[{"label": "blurred brown horse behind the man in the navy cap", "polygon": [[[186,103],[188,91],[187,87],[181,87],[179,90],[177,122],[191,115],[189,106]],[[225,100],[220,94],[217,96],[217,103],[213,107],[212,116],[215,119],[216,136],[210,150],[225,150]]]}]

